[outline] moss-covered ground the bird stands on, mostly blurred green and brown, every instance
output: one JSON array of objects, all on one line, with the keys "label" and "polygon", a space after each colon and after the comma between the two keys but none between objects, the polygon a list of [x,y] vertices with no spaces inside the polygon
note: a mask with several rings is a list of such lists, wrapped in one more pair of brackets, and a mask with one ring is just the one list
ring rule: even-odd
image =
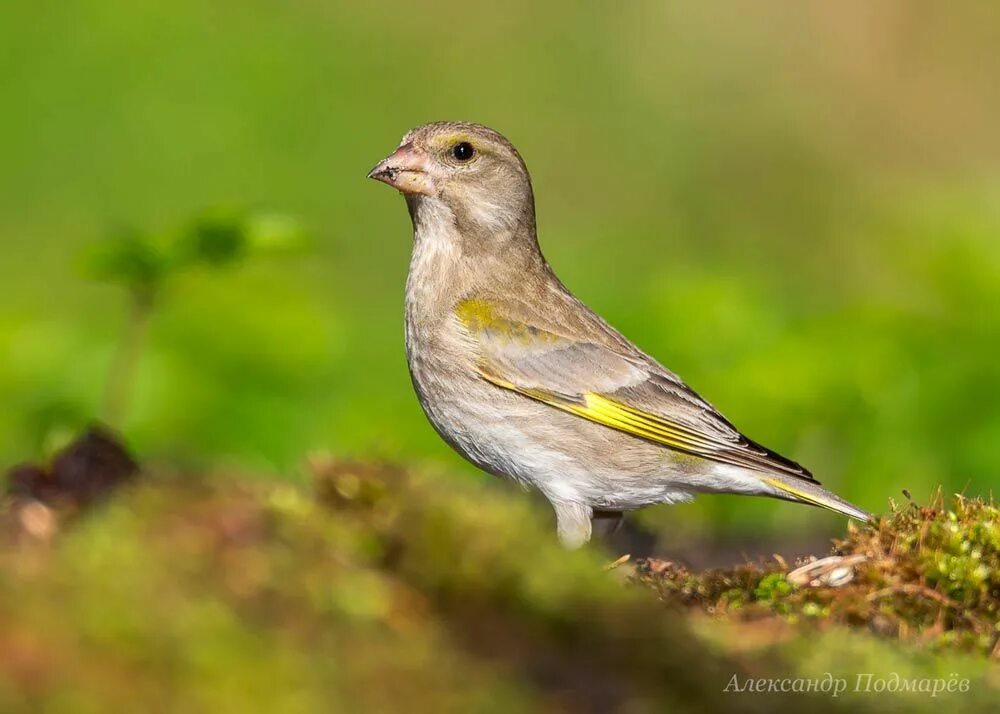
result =
[{"label": "moss-covered ground the bird stands on, mostly blurred green and brown", "polygon": [[[86,455],[61,468],[115,462]],[[838,550],[870,560],[851,583],[793,588],[777,562],[609,571],[519,495],[446,474],[154,471],[83,507],[36,488],[78,483],[58,471],[21,472],[2,516],[0,711],[995,711],[997,514],[980,501],[853,531]],[[866,672],[969,689],[726,692]]]}]

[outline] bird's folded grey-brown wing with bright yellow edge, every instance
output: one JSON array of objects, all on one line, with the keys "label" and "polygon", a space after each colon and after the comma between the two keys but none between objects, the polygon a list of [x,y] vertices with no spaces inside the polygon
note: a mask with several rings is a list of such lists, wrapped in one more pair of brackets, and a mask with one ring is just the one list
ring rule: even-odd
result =
[{"label": "bird's folded grey-brown wing with bright yellow edge", "polygon": [[456,317],[474,343],[480,375],[498,387],[679,452],[815,481],[803,467],[740,434],[638,350],[559,334],[479,300],[461,303]]}]

